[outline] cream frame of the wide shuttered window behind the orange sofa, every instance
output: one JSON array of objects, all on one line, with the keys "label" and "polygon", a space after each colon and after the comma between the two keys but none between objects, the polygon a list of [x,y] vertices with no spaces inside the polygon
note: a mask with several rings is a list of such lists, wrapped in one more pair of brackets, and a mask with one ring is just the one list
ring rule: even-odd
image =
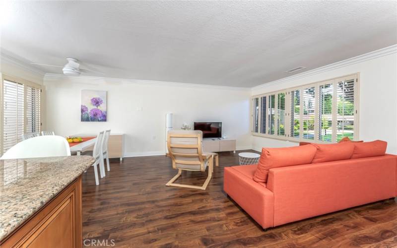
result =
[{"label": "cream frame of the wide shuttered window behind the orange sofa", "polygon": [[[337,140],[337,83],[340,81],[346,81],[346,80],[351,80],[354,79],[354,113],[353,113],[353,139],[354,140],[358,140],[359,139],[359,91],[360,91],[360,73],[356,72],[356,73],[352,73],[352,74],[348,74],[348,75],[344,75],[344,76],[338,76],[338,77],[333,77],[330,79],[326,79],[326,80],[321,80],[321,81],[317,81],[317,82],[313,82],[313,83],[307,83],[307,84],[302,84],[302,85],[298,85],[295,87],[290,87],[290,88],[286,88],[286,89],[281,89],[281,90],[277,90],[277,91],[271,91],[271,92],[266,92],[263,94],[259,94],[259,95],[254,95],[251,97],[251,99],[254,98],[259,98],[259,113],[258,115],[261,116],[262,115],[262,97],[266,96],[266,100],[267,103],[270,104],[269,102],[269,95],[274,95],[275,96],[275,116],[274,116],[274,120],[275,120],[275,126],[274,126],[274,134],[269,134],[269,127],[267,124],[269,124],[269,109],[266,110],[266,133],[261,133],[261,125],[260,122],[258,123],[258,132],[253,132],[251,130],[251,134],[254,136],[259,136],[259,137],[266,137],[266,138],[273,138],[273,139],[279,139],[279,140],[288,140],[288,141],[292,141],[292,142],[300,142],[300,141],[306,141],[306,142],[316,142],[316,143],[324,143],[324,144],[330,144],[330,143],[335,143]],[[321,85],[326,85],[326,84],[332,84],[333,87],[333,92],[332,92],[332,108],[331,108],[331,116],[332,116],[332,126],[331,126],[331,130],[332,130],[332,136],[331,136],[331,141],[322,141],[319,139],[319,104],[320,104],[320,86]],[[315,103],[315,108],[314,108],[314,139],[307,139],[307,138],[303,138],[303,90],[305,88],[309,88],[309,87],[315,87],[315,96],[314,96],[314,103]],[[299,109],[299,138],[298,137],[294,137],[291,136],[291,91],[296,91],[299,90],[299,100],[300,100],[300,109]],[[284,132],[285,132],[285,137],[284,136],[279,136],[276,135],[277,134],[277,97],[279,93],[285,93],[285,121],[284,121]],[[252,103],[252,100],[251,100]],[[251,106],[251,111],[253,110],[253,107]],[[252,113],[250,113],[251,116],[251,124],[253,123],[253,118],[252,118]],[[259,120],[260,121],[260,120]]]}]

